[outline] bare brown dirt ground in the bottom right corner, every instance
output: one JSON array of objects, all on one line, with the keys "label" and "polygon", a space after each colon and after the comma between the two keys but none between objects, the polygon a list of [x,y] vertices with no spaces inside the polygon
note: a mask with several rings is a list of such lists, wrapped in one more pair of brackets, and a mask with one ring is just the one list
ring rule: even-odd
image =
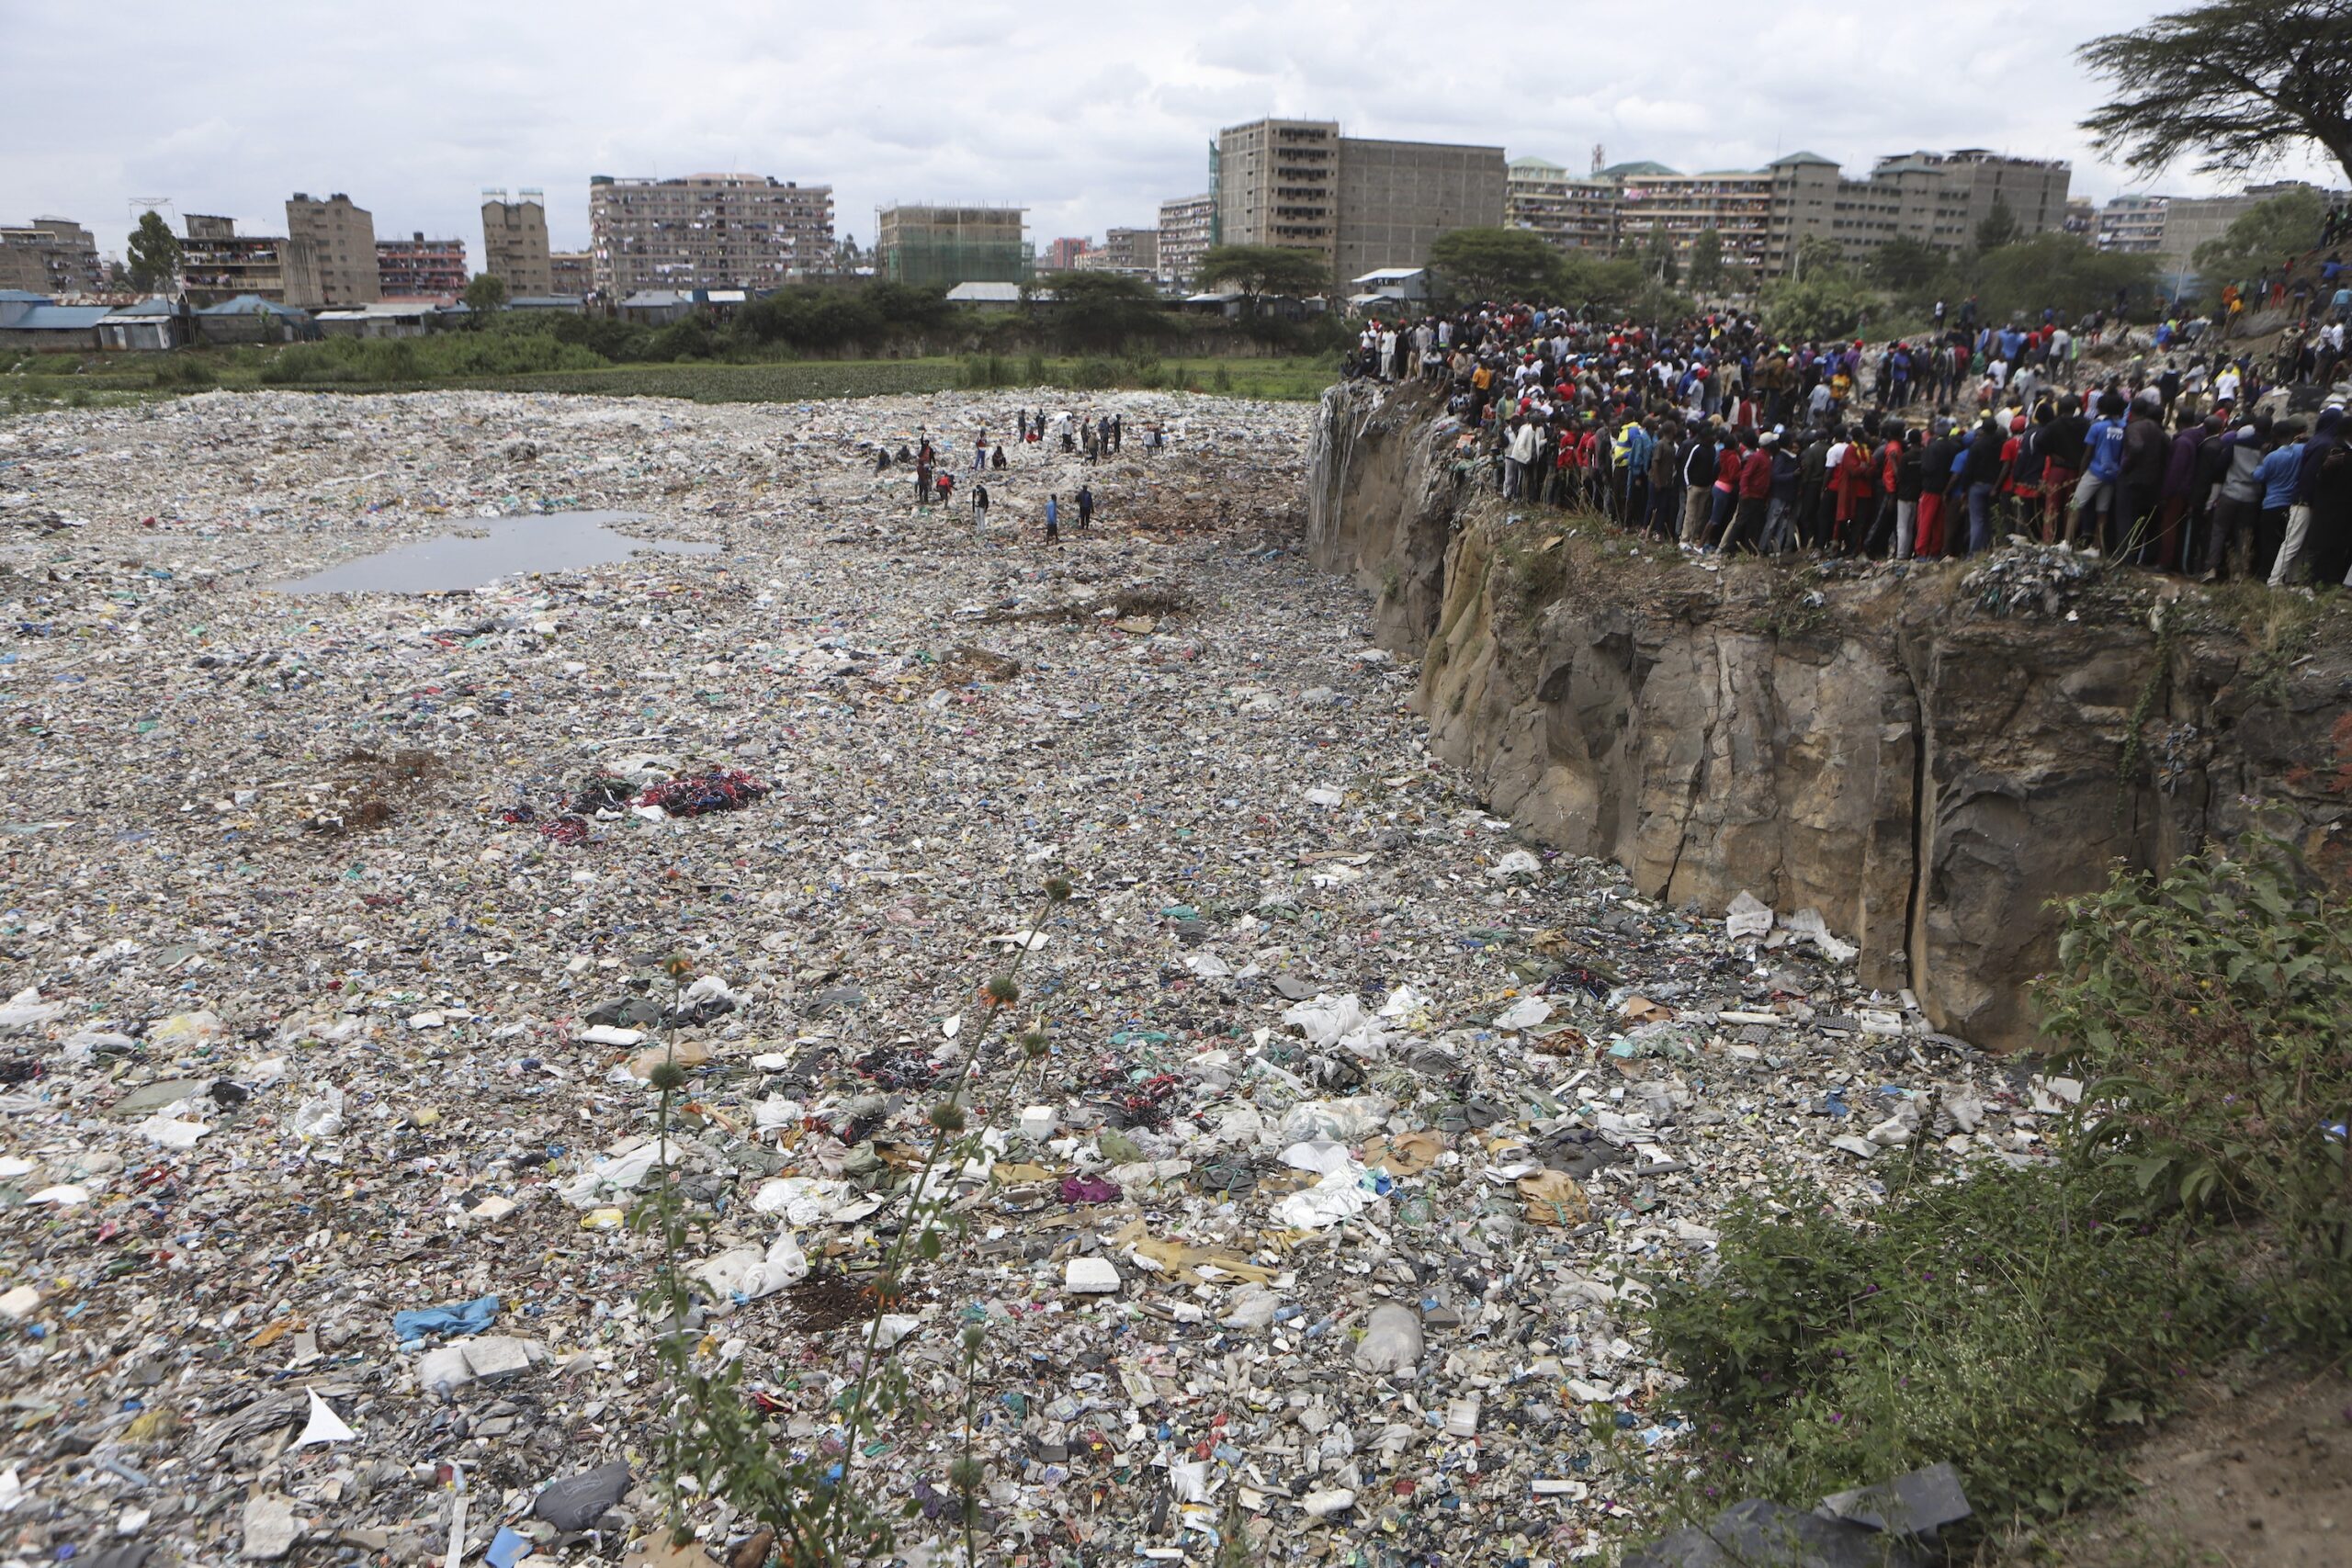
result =
[{"label": "bare brown dirt ground in the bottom right corner", "polygon": [[2216,1385],[2131,1462],[2147,1490],[2023,1561],[2067,1568],[2343,1568],[2352,1563],[2352,1375]]}]

